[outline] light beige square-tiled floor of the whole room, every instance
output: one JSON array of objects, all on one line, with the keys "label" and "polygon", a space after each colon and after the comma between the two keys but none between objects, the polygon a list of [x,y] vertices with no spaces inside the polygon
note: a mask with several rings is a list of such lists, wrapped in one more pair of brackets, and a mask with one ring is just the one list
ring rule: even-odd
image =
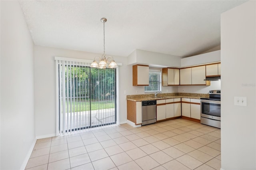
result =
[{"label": "light beige square-tiled floor of the whole room", "polygon": [[220,129],[186,119],[39,139],[28,170],[220,170]]}]

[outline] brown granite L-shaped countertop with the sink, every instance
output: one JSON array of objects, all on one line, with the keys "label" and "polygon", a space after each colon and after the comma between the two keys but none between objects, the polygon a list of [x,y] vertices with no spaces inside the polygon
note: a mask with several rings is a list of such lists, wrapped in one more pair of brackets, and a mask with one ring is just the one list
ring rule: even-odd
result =
[{"label": "brown granite L-shaped countertop with the sink", "polygon": [[161,99],[174,99],[174,98],[200,99],[201,97],[209,97],[209,94],[201,94],[201,93],[159,93],[157,95],[157,97],[154,97],[154,94],[127,95],[126,100],[130,100],[130,101],[148,101],[148,100],[161,100]]}]

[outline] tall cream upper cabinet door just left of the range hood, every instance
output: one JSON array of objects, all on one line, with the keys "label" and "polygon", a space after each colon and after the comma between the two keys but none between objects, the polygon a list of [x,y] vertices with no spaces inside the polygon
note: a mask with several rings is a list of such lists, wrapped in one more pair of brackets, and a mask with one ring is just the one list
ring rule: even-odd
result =
[{"label": "tall cream upper cabinet door just left of the range hood", "polygon": [[192,85],[205,85],[205,65],[192,67],[191,69]]}]

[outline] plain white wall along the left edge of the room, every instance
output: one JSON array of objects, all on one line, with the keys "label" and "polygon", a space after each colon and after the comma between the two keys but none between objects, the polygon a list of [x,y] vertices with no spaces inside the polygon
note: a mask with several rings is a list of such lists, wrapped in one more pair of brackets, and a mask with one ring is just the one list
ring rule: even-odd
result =
[{"label": "plain white wall along the left edge of the room", "polygon": [[1,170],[24,169],[35,143],[33,46],[18,1],[1,1]]}]

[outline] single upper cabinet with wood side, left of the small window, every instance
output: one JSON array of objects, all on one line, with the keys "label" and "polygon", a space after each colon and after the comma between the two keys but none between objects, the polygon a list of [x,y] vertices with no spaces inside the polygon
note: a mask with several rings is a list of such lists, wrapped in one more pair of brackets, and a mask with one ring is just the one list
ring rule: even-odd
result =
[{"label": "single upper cabinet with wood side, left of the small window", "polygon": [[132,85],[133,86],[149,85],[149,66],[148,65],[132,66]]}]

